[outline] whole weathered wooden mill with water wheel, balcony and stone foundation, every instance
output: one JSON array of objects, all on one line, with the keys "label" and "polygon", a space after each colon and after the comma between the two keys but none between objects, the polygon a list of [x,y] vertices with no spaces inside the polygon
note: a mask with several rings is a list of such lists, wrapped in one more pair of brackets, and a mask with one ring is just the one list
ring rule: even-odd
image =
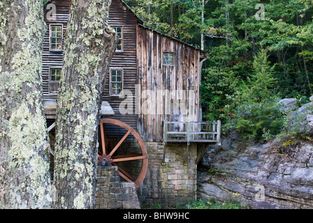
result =
[{"label": "whole weathered wooden mill with water wheel, balcony and stone foundation", "polygon": [[[45,4],[42,79],[48,126],[56,116],[70,2]],[[103,95],[100,151],[118,166],[122,179],[135,181],[142,202],[174,206],[195,199],[204,145],[220,141],[219,121],[200,122],[205,53],[145,27],[122,0],[112,0],[109,24],[119,43]]]}]

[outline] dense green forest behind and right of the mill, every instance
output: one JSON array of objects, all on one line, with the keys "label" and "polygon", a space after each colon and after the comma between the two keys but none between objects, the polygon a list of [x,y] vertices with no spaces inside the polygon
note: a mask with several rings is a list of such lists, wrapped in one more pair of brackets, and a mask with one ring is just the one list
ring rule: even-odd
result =
[{"label": "dense green forest behind and right of the mill", "polygon": [[268,138],[286,127],[282,98],[312,95],[312,0],[125,0],[145,26],[208,53],[204,120]]}]

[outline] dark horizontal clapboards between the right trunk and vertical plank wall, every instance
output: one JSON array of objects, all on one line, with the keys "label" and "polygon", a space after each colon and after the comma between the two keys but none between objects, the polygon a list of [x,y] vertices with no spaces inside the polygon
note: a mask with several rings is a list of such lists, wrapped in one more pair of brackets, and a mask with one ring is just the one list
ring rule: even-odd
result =
[{"label": "dark horizontal clapboards between the right trunk and vertical plank wall", "polygon": [[[136,26],[138,23],[137,17],[125,6],[120,0],[113,0],[109,11],[109,25],[110,26],[122,26],[123,32],[123,50],[122,52],[115,52],[111,61],[111,69],[123,70],[123,91],[131,91],[133,97],[128,100],[135,100],[135,86],[137,84],[137,57],[136,57]],[[137,116],[133,114],[122,115],[120,114],[120,103],[123,102],[126,97],[110,96],[110,75],[106,77],[106,86],[104,90],[103,100],[110,102],[115,116],[105,117],[114,118],[119,121],[123,121],[130,125],[135,130],[137,129]],[[133,103],[133,111],[135,110]],[[126,131],[121,131],[119,128],[113,128],[110,125],[106,126],[107,137],[123,137]]]}]

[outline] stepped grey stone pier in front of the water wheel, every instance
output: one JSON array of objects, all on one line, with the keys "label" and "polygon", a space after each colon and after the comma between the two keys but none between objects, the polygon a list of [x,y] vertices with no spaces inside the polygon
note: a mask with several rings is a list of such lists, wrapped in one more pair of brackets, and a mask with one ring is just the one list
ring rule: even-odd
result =
[{"label": "stepped grey stone pier in front of the water wheel", "polygon": [[118,167],[97,167],[96,208],[141,208],[135,184],[120,182]]}]

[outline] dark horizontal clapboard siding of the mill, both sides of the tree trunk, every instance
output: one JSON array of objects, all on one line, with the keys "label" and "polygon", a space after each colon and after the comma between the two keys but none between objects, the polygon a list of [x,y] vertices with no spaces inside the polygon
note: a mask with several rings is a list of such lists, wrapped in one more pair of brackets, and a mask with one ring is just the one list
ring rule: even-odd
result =
[{"label": "dark horizontal clapboard siding of the mill, both sides of the tree trunk", "polygon": [[[56,5],[56,20],[47,20],[47,13],[49,8],[44,8],[45,22],[47,24],[47,33],[45,34],[45,40],[43,43],[43,56],[42,56],[42,79],[43,79],[43,93],[45,100],[56,100],[56,93],[49,93],[49,68],[63,67],[63,51],[53,52],[49,50],[49,26],[50,24],[62,24],[63,25],[63,40],[65,38],[68,13],[70,8],[70,0],[65,1],[51,1]],[[113,0],[111,8],[109,10],[109,24],[111,26],[122,26],[123,29],[123,51],[115,52],[111,61],[111,69],[123,70],[123,89],[129,90],[135,95],[135,85],[137,84],[137,63],[136,63],[136,26],[140,22],[138,17],[129,10],[129,8],[120,0]],[[131,114],[123,116],[119,112],[120,102],[125,98],[119,98],[116,96],[110,96],[109,94],[109,78],[107,75],[106,86],[104,91],[104,101],[108,101],[115,112],[115,116],[107,118],[115,118],[120,121],[131,125],[132,128],[137,128],[137,116]],[[134,99],[134,97],[133,97]],[[134,109],[134,107],[133,107]],[[120,131],[117,128],[107,129],[108,137],[122,137],[124,131]]]}]

